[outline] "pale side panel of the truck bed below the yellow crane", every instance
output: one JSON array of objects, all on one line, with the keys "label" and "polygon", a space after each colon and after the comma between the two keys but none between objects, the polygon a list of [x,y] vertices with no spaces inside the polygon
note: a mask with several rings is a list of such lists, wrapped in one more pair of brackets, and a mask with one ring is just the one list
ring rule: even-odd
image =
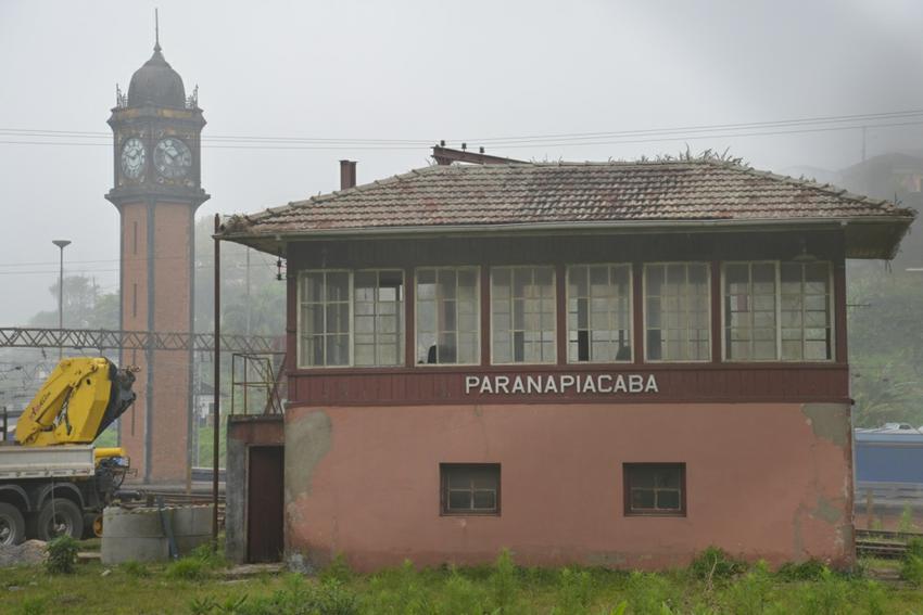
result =
[{"label": "pale side panel of the truck bed below the yellow crane", "polygon": [[92,476],[92,445],[0,446],[0,481]]}]

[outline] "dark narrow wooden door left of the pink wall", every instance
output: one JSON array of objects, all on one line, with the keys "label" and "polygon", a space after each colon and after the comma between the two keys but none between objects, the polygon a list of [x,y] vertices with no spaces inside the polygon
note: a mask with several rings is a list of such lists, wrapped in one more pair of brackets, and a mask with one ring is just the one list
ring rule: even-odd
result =
[{"label": "dark narrow wooden door left of the pink wall", "polygon": [[283,448],[250,447],[246,473],[246,560],[278,562],[282,559]]}]

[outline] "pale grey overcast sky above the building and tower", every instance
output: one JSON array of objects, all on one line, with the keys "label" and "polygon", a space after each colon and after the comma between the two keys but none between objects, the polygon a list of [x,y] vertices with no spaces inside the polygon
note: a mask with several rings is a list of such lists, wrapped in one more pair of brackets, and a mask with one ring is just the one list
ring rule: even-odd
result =
[{"label": "pale grey overcast sky above the building and tower", "polygon": [[[334,190],[339,158],[358,161],[361,183],[425,166],[422,143],[439,139],[555,161],[636,158],[688,143],[695,152],[730,148],[769,170],[839,169],[861,159],[860,129],[490,140],[923,108],[919,0],[0,0],[0,326],[55,308],[53,239],[74,242],[67,273],[117,290],[117,215],[103,198],[113,182],[105,120],[116,82],[127,91],[151,55],[154,7],[166,60],[188,93],[200,87],[205,138],[366,142],[206,145],[202,182],[212,200],[200,216]],[[923,124],[900,124],[869,128],[868,155],[923,149]],[[421,143],[368,149],[371,140]]]}]

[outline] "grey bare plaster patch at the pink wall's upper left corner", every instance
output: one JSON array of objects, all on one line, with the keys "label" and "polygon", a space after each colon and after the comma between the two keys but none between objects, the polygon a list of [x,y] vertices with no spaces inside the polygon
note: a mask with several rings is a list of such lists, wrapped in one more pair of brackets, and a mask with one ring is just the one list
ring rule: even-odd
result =
[{"label": "grey bare plaster patch at the pink wall's upper left corner", "polygon": [[311,479],[320,460],[330,451],[333,427],[321,410],[286,424],[286,503],[311,495]]}]

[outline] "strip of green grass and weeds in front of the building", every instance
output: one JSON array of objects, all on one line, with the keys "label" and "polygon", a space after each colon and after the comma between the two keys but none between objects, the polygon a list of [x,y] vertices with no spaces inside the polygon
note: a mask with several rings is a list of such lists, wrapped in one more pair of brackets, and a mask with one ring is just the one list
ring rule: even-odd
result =
[{"label": "strip of green grass and weeds in front of the building", "polygon": [[[492,565],[416,568],[410,562],[374,575],[339,559],[317,577],[263,575],[227,580],[220,558],[197,552],[170,564],[77,564],[72,575],[42,566],[4,568],[0,613],[192,613],[217,615],[677,615],[923,613],[923,589],[842,575],[811,563],[771,571],[704,554],[687,569],[618,572],[516,565],[503,552]],[[716,562],[718,564],[716,565]],[[706,574],[703,575],[701,569]],[[710,574],[709,574],[710,573]]]}]

